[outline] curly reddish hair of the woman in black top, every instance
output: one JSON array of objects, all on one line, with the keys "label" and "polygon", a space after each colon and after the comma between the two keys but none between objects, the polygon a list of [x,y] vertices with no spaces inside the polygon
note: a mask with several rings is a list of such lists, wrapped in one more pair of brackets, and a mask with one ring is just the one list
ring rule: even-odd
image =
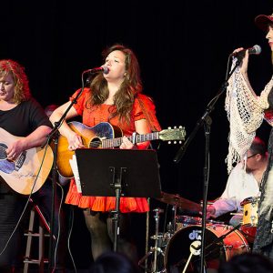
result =
[{"label": "curly reddish hair of the woman in black top", "polygon": [[13,60],[0,60],[0,77],[11,75],[15,82],[15,94],[13,101],[19,104],[22,101],[28,100],[31,93],[28,86],[28,79],[25,75],[25,67],[19,65]]}]

